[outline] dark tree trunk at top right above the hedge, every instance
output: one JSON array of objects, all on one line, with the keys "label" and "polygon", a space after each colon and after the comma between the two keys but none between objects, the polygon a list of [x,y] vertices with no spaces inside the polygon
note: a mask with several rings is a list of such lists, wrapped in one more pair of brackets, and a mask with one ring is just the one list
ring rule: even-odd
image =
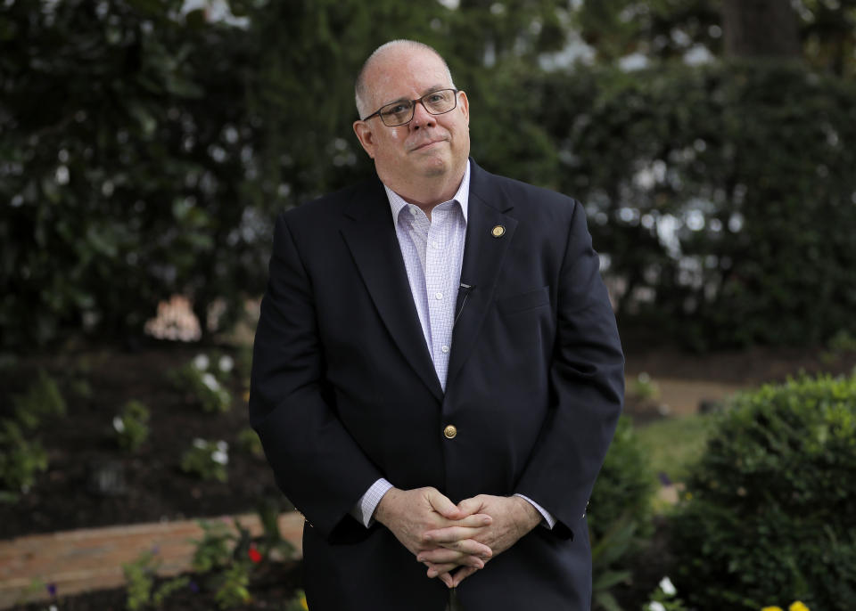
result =
[{"label": "dark tree trunk at top right above the hedge", "polygon": [[730,57],[801,56],[789,0],[723,0],[722,29]]}]

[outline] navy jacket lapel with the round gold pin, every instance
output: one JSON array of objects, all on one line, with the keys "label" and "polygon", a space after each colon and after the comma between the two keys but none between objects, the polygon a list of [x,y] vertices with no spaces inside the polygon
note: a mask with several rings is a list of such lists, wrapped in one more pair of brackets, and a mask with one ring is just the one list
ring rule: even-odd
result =
[{"label": "navy jacket lapel with the round gold pin", "polygon": [[[455,381],[473,349],[481,322],[493,300],[499,270],[517,226],[516,219],[506,215],[514,205],[498,187],[498,183],[475,165],[472,159],[470,164],[470,200],[461,283],[469,284],[473,289],[466,297],[452,332],[447,388]],[[498,227],[501,227],[501,235],[497,236],[494,230]],[[461,301],[459,299],[458,303]]]}]

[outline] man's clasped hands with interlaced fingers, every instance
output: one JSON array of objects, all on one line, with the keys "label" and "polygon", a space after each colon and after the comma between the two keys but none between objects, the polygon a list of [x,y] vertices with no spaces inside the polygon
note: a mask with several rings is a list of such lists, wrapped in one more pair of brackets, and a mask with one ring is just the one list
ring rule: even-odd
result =
[{"label": "man's clasped hands with interlaced fingers", "polygon": [[374,518],[428,567],[429,577],[439,577],[449,588],[484,568],[541,520],[538,509],[517,496],[479,494],[456,505],[430,487],[392,488]]}]

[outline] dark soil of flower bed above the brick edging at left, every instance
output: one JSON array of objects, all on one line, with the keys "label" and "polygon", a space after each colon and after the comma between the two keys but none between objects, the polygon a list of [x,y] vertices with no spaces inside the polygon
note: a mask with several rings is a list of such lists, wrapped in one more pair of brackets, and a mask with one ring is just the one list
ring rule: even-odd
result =
[{"label": "dark soil of flower bed above the brick edging at left", "polygon": [[[238,443],[239,432],[248,426],[243,376],[233,376],[233,406],[226,413],[202,411],[169,380],[169,371],[201,352],[210,351],[168,344],[133,352],[103,349],[21,360],[14,370],[0,374],[0,418],[12,415],[12,396],[26,390],[38,369],[58,380],[67,403],[64,417],[43,422],[35,433],[47,452],[47,470],[18,502],[0,503],[0,539],[215,517],[253,511],[262,502],[291,509],[264,458]],[[239,354],[232,354],[240,363]],[[75,391],[81,380],[86,380],[88,396]],[[130,453],[119,448],[112,420],[132,399],[148,407],[151,419],[148,440]],[[202,481],[181,470],[182,454],[196,437],[229,444],[227,483]],[[115,493],[94,489],[95,473],[103,468],[121,473],[122,485]]]}]

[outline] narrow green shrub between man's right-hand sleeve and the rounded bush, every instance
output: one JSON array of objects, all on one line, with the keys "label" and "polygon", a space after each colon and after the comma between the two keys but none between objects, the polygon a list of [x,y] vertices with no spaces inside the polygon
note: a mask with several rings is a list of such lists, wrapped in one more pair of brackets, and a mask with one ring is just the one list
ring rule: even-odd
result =
[{"label": "narrow green shrub between man's right-hand sleeve and the rounded bush", "polygon": [[634,434],[621,416],[588,508],[592,546],[593,605],[613,611],[613,588],[630,578],[630,562],[651,534],[654,476]]}]

